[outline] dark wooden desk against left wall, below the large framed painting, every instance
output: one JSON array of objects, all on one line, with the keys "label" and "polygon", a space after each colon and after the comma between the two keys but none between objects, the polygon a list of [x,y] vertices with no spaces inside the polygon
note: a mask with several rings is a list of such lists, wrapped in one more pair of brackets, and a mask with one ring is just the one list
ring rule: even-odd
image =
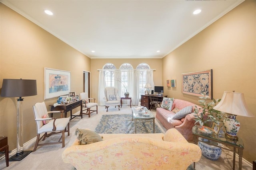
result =
[{"label": "dark wooden desk against left wall, below the large framed painting", "polygon": [[[72,103],[68,103],[68,104],[61,104],[61,105],[58,105],[56,107],[54,107],[53,105],[50,105],[50,106],[51,106],[51,111],[63,110],[64,113],[65,113],[65,117],[67,117],[67,112],[70,111],[70,120],[73,119],[76,116],[81,116],[81,119],[83,118],[83,114],[82,114],[83,102],[82,102],[82,100],[78,100],[76,102],[72,102]],[[72,118],[72,109],[74,109],[78,106],[81,107],[80,115],[73,115],[73,118]],[[52,117],[52,113],[50,113],[50,116]]]}]

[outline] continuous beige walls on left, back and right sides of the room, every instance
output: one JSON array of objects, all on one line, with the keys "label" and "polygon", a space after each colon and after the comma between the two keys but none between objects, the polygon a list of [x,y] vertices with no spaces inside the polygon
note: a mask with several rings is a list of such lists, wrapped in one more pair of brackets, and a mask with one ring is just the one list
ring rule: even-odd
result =
[{"label": "continuous beige walls on left, back and right sides of the room", "polygon": [[[44,101],[44,67],[71,71],[71,91],[82,92],[83,70],[91,72],[91,96],[98,98],[98,71],[104,64],[134,68],[147,63],[155,68],[156,86],[174,98],[198,103],[182,94],[181,74],[213,69],[213,96],[224,91],[243,92],[249,109],[256,110],[256,1],[246,0],[163,59],[89,59],[44,29],[0,3],[0,87],[3,78],[36,79],[38,95],[25,97],[24,143],[36,136],[32,105]],[[92,68],[92,69],[91,69]],[[176,79],[176,88],[166,80]],[[162,83],[161,83],[162,82]],[[57,98],[46,100],[46,106]],[[16,148],[16,99],[0,98],[0,135],[8,136],[10,150]],[[49,107],[48,107],[49,110]],[[240,117],[238,135],[243,139],[244,158],[252,162],[256,153],[256,117]]]}]

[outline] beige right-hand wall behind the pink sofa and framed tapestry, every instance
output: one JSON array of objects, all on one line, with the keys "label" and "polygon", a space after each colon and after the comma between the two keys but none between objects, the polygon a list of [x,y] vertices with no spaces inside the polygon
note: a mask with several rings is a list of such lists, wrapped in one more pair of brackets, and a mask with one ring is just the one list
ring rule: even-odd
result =
[{"label": "beige right-hand wall behind the pink sofa and framed tapestry", "polygon": [[[182,73],[213,69],[213,97],[224,91],[244,93],[246,104],[256,110],[256,1],[246,0],[163,58],[163,83],[176,79],[168,96],[198,104],[182,94]],[[166,88],[167,89],[167,88]],[[238,136],[244,141],[244,158],[256,159],[256,117],[237,117]]]}]

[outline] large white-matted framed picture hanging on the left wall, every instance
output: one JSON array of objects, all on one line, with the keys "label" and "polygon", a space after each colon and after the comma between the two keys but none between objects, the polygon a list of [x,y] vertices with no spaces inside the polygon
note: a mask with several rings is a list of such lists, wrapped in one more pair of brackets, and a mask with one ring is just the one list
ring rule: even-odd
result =
[{"label": "large white-matted framed picture hanging on the left wall", "polygon": [[70,92],[70,71],[44,67],[44,100]]}]

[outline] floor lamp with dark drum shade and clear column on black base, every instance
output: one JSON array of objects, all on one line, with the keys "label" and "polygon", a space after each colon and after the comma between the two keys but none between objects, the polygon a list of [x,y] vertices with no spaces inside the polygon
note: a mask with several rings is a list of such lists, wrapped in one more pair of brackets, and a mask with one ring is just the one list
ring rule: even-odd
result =
[{"label": "floor lamp with dark drum shade and clear column on black base", "polygon": [[32,150],[23,150],[23,113],[22,96],[37,95],[36,80],[24,79],[4,79],[1,90],[1,97],[19,97],[17,99],[17,152],[9,161],[20,161],[25,158]]}]

